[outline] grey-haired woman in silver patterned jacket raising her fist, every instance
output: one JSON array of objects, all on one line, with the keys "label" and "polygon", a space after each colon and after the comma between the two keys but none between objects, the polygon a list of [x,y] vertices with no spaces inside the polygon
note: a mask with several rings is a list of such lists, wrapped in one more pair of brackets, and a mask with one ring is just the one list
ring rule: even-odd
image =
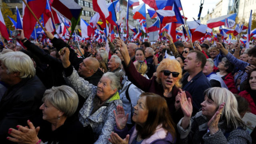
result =
[{"label": "grey-haired woman in silver patterned jacket raising her fist", "polygon": [[[70,65],[69,49],[61,51],[61,60],[64,69],[64,79],[74,90],[85,99],[84,105],[79,111],[79,121],[86,130],[92,129],[94,144],[107,144],[108,136],[114,130],[115,117],[113,110],[122,105],[118,90],[120,78],[113,72],[103,74],[97,86],[79,77],[76,70]],[[88,132],[89,134],[89,132]],[[90,140],[86,137],[86,141]]]}]

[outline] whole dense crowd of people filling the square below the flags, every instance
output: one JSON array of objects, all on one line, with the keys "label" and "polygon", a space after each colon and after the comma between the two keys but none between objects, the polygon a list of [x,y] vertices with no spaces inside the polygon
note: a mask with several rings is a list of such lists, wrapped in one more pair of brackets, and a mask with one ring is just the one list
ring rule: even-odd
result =
[{"label": "whole dense crowd of people filling the square below the flags", "polygon": [[[167,41],[34,44],[0,54],[4,144],[253,144],[256,46]],[[78,46],[79,45],[79,46]]]}]

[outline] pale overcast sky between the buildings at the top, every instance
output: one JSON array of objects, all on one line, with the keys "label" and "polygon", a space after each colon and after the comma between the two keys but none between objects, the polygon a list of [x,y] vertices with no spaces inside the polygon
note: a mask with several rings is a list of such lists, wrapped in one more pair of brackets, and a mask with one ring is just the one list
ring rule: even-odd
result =
[{"label": "pale overcast sky between the buildings at the top", "polygon": [[[140,4],[143,3],[142,0],[139,0],[139,1],[140,1]],[[180,1],[182,4],[182,8],[184,10],[184,14],[188,18],[188,21],[193,20],[193,18],[197,19],[198,13],[199,13],[199,6],[201,5],[201,0],[180,0]],[[211,12],[212,8],[215,7],[217,2],[219,2],[219,0],[204,0],[201,17],[203,17],[207,14],[208,9]],[[134,6],[134,8],[135,7],[136,6]],[[147,4],[146,4],[146,8],[149,8],[149,6]],[[182,14],[182,11],[180,11],[180,12]]]}]

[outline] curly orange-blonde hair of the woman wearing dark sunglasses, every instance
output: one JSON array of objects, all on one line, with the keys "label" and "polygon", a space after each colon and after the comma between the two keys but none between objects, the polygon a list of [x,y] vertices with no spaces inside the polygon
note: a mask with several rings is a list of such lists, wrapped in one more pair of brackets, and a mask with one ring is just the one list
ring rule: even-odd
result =
[{"label": "curly orange-blonde hair of the woman wearing dark sunglasses", "polygon": [[161,83],[161,71],[166,69],[166,68],[174,68],[174,70],[172,70],[172,72],[178,72],[180,73],[178,76],[178,80],[175,83],[175,86],[177,86],[178,88],[181,88],[182,84],[180,83],[180,79],[182,77],[182,69],[180,66],[180,63],[177,60],[171,60],[169,58],[165,58],[163,59],[159,66],[156,69],[156,81],[160,84]]}]

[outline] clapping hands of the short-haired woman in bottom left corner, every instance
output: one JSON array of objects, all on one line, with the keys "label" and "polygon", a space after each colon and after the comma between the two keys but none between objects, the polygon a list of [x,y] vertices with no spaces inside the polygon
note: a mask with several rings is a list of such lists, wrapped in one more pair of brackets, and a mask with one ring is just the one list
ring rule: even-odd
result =
[{"label": "clapping hands of the short-haired woman in bottom left corner", "polygon": [[26,126],[16,126],[18,130],[10,128],[8,134],[12,137],[7,137],[8,140],[17,143],[24,143],[24,144],[36,144],[39,141],[37,137],[40,127],[34,127],[30,120],[27,121],[29,128]]}]

